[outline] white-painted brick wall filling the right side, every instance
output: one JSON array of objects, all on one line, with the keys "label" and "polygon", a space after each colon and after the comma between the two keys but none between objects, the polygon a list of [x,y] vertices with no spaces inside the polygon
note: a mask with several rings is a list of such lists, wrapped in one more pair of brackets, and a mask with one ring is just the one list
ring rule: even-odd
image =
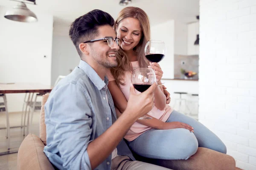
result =
[{"label": "white-painted brick wall filling the right side", "polygon": [[256,0],[200,0],[199,121],[256,170]]}]

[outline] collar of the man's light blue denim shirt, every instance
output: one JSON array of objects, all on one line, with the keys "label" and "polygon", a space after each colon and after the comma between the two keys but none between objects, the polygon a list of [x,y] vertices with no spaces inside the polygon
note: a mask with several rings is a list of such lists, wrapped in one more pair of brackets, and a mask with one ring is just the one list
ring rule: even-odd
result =
[{"label": "collar of the man's light blue denim shirt", "polygon": [[96,73],[96,71],[85,61],[80,60],[79,68],[81,68],[85,74],[89,77],[89,79],[93,82],[93,84],[98,88],[98,90],[101,90],[105,87],[105,85],[108,86],[108,78],[105,76],[104,81],[99,77],[99,75]]}]

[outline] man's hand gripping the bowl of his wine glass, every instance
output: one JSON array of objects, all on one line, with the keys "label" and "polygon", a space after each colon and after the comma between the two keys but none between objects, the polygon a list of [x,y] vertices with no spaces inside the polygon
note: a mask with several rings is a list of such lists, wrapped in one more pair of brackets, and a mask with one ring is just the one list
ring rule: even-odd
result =
[{"label": "man's hand gripping the bowl of his wine glass", "polygon": [[146,113],[152,110],[154,104],[154,90],[157,87],[157,83],[151,85],[148,90],[141,94],[136,94],[134,86],[130,87],[130,96],[125,111],[134,114],[137,119],[144,116]]}]

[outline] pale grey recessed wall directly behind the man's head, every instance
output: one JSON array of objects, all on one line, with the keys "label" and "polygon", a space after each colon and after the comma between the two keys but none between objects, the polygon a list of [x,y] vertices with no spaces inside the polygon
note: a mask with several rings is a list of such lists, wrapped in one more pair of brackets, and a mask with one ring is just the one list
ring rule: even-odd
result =
[{"label": "pale grey recessed wall directly behind the man's head", "polygon": [[52,40],[52,79],[54,85],[59,75],[70,74],[79,65],[80,57],[68,36],[54,35]]}]

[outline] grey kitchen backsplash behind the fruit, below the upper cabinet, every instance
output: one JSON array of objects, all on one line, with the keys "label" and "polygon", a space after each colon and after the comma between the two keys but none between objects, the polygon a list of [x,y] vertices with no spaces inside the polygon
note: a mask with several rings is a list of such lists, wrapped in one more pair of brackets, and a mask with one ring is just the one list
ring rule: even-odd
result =
[{"label": "grey kitchen backsplash behind the fruit, below the upper cabinet", "polygon": [[193,71],[197,74],[192,79],[198,79],[198,55],[184,56],[174,55],[174,78],[184,79],[184,74],[181,73],[181,69],[185,71]]}]

